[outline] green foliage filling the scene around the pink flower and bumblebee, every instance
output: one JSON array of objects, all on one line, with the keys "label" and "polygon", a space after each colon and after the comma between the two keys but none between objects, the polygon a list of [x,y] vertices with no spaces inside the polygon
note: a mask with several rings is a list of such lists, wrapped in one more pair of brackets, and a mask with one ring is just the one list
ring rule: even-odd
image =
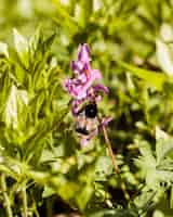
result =
[{"label": "green foliage filling the scene around the pink flower and bumblebee", "polygon": [[[172,11],[172,0],[1,0],[0,216],[51,217],[56,203],[173,216]],[[81,148],[74,132],[63,80],[82,42],[110,88],[99,111],[114,118],[118,175],[102,135]]]}]

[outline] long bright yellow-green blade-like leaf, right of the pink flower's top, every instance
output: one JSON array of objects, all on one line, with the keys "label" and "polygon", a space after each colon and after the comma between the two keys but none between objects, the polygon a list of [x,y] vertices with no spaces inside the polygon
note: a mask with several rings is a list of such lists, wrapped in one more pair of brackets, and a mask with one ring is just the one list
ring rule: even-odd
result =
[{"label": "long bright yellow-green blade-like leaf, right of the pink flower's top", "polygon": [[163,85],[167,81],[167,76],[161,73],[156,73],[148,69],[143,69],[131,64],[124,63],[122,61],[116,61],[121,67],[137,76],[138,78],[146,81],[146,84],[156,90],[161,91],[163,89]]}]

